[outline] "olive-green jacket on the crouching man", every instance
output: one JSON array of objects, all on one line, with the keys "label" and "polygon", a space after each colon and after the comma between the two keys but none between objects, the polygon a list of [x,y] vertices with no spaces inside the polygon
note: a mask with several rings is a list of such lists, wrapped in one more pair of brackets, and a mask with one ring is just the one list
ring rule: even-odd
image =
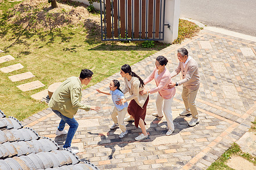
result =
[{"label": "olive-green jacket on the crouching man", "polygon": [[78,77],[67,78],[53,93],[48,106],[68,118],[73,118],[78,109],[90,110],[89,105],[81,104],[82,84]]}]

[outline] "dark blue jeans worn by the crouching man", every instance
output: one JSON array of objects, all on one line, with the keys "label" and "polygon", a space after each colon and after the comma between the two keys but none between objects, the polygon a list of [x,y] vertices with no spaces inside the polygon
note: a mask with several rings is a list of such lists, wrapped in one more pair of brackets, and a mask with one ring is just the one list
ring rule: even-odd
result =
[{"label": "dark blue jeans worn by the crouching man", "polygon": [[75,120],[75,118],[68,118],[65,117],[63,114],[61,114],[59,111],[53,110],[52,111],[57,114],[57,116],[59,116],[61,118],[58,130],[59,131],[63,131],[63,129],[65,128],[65,124],[67,123],[69,125],[69,129],[68,129],[68,134],[67,134],[67,138],[65,141],[65,145],[63,146],[64,148],[68,148],[71,146],[71,142],[72,139],[76,133],[76,130],[79,126],[78,122]]}]

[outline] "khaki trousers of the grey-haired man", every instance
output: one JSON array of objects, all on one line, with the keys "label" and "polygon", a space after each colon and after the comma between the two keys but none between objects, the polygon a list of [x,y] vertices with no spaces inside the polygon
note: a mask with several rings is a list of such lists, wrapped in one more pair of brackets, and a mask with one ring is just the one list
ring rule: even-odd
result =
[{"label": "khaki trousers of the grey-haired man", "polygon": [[191,111],[192,117],[193,118],[198,118],[198,112],[196,109],[196,95],[197,95],[197,90],[191,90],[183,86],[182,94],[181,97],[183,99],[185,109],[187,111]]}]

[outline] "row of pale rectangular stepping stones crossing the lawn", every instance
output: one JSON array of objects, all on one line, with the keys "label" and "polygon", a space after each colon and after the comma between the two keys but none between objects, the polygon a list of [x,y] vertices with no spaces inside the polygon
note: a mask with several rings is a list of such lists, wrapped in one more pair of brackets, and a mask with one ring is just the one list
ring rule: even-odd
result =
[{"label": "row of pale rectangular stepping stones crossing the lawn", "polygon": [[[3,50],[0,50],[0,53],[3,53]],[[3,57],[0,57],[0,63],[11,61],[11,60],[14,60],[14,59],[15,58],[13,56],[11,56],[11,55],[3,56]],[[7,67],[2,67],[0,69],[0,71],[2,71],[3,73],[11,73],[12,71],[19,70],[19,69],[22,69],[22,68],[24,68],[24,66],[21,65],[20,63],[17,63],[15,65],[10,65],[10,66],[7,66]],[[11,75],[8,78],[12,82],[18,82],[20,80],[25,80],[25,79],[33,78],[34,76],[35,75],[32,74],[31,72],[26,72],[26,73]],[[22,91],[30,91],[30,90],[34,90],[36,88],[40,88],[40,87],[44,87],[44,86],[45,85],[42,82],[40,82],[39,80],[36,80],[34,82],[20,84],[17,87],[20,90],[22,90]],[[31,95],[31,97],[36,99],[36,100],[42,100],[43,97],[45,97],[45,96],[47,96],[47,90],[39,92],[39,93],[37,93],[35,95]]]}]

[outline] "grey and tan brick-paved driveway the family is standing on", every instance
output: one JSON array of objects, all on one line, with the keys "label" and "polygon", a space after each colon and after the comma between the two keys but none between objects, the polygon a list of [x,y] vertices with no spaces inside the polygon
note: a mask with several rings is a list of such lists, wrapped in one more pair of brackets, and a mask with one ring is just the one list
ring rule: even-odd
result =
[{"label": "grey and tan brick-paved driveway the family is standing on", "polygon": [[[154,70],[155,58],[159,55],[168,58],[167,66],[172,71],[177,66],[176,51],[181,46],[199,63],[201,86],[196,104],[200,124],[189,127],[191,116],[179,116],[184,105],[182,87],[177,87],[172,104],[175,131],[171,136],[165,135],[165,118],[158,120],[151,116],[156,111],[156,94],[153,94],[146,116],[149,137],[141,142],[134,141],[141,130],[130,122],[126,125],[129,134],[119,139],[121,130],[109,129],[113,124],[112,100],[95,90],[108,90],[112,79],[123,84],[117,73],[83,91],[82,102],[100,105],[102,110],[79,110],[75,116],[79,128],[72,146],[79,148],[81,159],[89,160],[99,169],[206,169],[250,128],[256,115],[256,43],[201,31],[199,36],[181,45],[171,45],[136,63],[133,71],[146,78]],[[173,81],[179,79],[180,76],[176,76]],[[146,87],[155,87],[155,83]],[[65,137],[55,135],[59,121],[51,109],[46,109],[27,118],[23,124],[63,145]]]}]

